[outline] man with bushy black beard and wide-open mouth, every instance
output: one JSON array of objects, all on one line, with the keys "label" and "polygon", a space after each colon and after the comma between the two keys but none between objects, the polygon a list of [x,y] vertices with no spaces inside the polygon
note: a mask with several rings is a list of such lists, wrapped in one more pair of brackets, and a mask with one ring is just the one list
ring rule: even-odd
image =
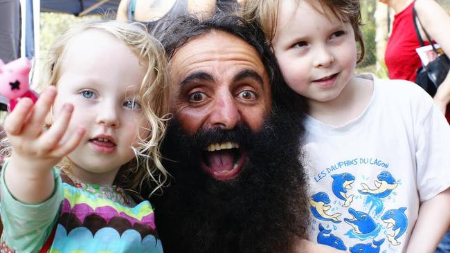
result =
[{"label": "man with bushy black beard and wide-open mouth", "polygon": [[238,17],[183,17],[161,42],[174,115],[161,153],[173,180],[151,202],[164,252],[298,251],[309,218],[304,103],[262,32]]}]

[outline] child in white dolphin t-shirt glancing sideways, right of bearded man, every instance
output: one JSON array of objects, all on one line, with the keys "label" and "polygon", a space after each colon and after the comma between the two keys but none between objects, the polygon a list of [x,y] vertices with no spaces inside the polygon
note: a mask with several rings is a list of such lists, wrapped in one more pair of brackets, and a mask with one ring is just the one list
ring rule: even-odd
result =
[{"label": "child in white dolphin t-shirt glancing sideways, right of bearded man", "polygon": [[287,84],[307,97],[310,241],[433,252],[450,224],[450,127],[417,85],[354,76],[359,1],[247,0],[244,17],[262,26]]}]

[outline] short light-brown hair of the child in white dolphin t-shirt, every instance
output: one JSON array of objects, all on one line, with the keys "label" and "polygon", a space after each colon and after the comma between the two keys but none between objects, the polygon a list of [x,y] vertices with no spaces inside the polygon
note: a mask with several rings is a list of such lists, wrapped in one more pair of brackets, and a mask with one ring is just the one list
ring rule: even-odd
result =
[{"label": "short light-brown hair of the child in white dolphin t-shirt", "polygon": [[[276,33],[278,19],[278,8],[282,0],[246,0],[242,5],[240,15],[246,21],[257,24],[262,28],[266,39],[271,42]],[[294,0],[298,5],[300,1],[305,1],[321,15],[328,17],[330,10],[341,21],[348,21],[354,30],[354,39],[359,44],[360,52],[357,62],[361,62],[364,57],[364,41],[361,33],[361,7],[359,0]],[[318,7],[321,8],[318,8]]]}]

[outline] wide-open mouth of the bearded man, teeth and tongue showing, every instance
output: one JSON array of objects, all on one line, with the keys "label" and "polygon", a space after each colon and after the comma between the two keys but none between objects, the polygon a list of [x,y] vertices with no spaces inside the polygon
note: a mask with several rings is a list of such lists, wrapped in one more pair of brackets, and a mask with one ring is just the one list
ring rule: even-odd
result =
[{"label": "wide-open mouth of the bearded man, teeth and tongue showing", "polygon": [[240,174],[246,154],[235,142],[213,143],[201,152],[201,167],[217,180],[231,180]]}]

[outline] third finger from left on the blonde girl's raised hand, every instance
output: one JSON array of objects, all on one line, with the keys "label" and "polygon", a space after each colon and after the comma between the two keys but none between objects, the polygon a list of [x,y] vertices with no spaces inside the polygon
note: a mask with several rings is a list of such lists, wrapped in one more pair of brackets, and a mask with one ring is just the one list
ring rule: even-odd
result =
[{"label": "third finger from left on the blonde girl's raised hand", "polygon": [[64,133],[66,133],[67,128],[69,127],[72,112],[73,105],[64,104],[59,117],[55,120],[50,129],[39,136],[38,145],[39,149],[41,149],[43,153],[47,153],[57,148],[58,144],[61,142],[61,138],[64,136]]}]

